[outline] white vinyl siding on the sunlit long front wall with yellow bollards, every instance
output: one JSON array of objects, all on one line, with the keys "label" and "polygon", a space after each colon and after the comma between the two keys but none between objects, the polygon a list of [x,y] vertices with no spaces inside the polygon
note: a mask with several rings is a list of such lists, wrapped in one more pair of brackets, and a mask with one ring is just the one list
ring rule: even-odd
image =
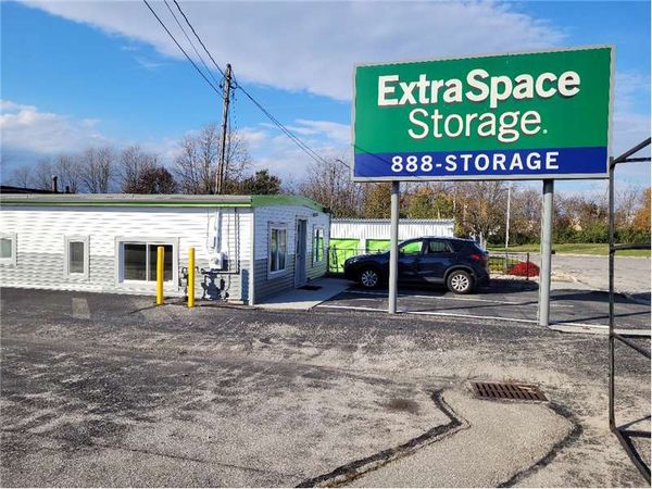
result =
[{"label": "white vinyl siding on the sunlit long front wall with yellow bollards", "polygon": [[[242,277],[249,279],[251,256],[249,209],[222,209],[223,251],[228,256],[228,273],[221,275],[228,287],[229,300],[247,293]],[[0,285],[89,292],[151,294],[155,283],[118,281],[118,249],[115,238],[125,241],[162,237],[178,240],[177,263],[187,266],[188,249],[195,248],[196,263],[206,267],[208,247],[212,244],[216,209],[210,208],[127,208],[127,206],[12,206],[0,209],[2,231],[17,235],[17,266],[0,265]],[[12,235],[13,236],[13,235]],[[64,236],[89,236],[89,278],[80,280],[63,274]],[[264,233],[263,233],[264,236]],[[178,237],[178,238],[177,238]],[[155,241],[152,241],[155,242]],[[265,239],[266,246],[266,239]],[[244,264],[244,271],[241,265]],[[178,268],[177,268],[178,269]],[[178,275],[178,274],[177,274]],[[196,297],[202,294],[202,276],[197,275]],[[165,284],[165,294],[184,294],[178,280]]]}]

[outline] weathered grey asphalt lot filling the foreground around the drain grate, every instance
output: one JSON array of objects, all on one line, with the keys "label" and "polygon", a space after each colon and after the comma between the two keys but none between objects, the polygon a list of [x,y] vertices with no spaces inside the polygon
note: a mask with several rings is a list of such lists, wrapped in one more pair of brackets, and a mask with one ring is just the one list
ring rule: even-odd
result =
[{"label": "weathered grey asphalt lot filling the foreground around the drain grate", "polygon": [[[0,292],[5,487],[644,484],[607,429],[601,335]],[[619,354],[619,419],[649,426],[649,363]],[[549,402],[478,400],[471,380]]]}]

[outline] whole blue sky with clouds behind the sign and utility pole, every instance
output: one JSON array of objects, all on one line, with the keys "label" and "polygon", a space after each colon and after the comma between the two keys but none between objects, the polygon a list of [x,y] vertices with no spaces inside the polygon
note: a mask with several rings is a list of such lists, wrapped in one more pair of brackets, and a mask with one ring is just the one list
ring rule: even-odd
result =
[{"label": "whole blue sky with clouds behind the sign and utility pole", "polygon": [[[325,155],[350,154],[354,62],[546,47],[615,45],[614,151],[650,133],[649,2],[181,5],[216,61]],[[164,3],[152,7],[176,27]],[[217,95],[141,2],[2,2],[1,30],[5,175],[91,143],[138,142],[171,161],[185,134],[220,120]],[[300,179],[308,156],[241,95],[233,108],[256,165]],[[648,185],[650,173],[624,178]]]}]

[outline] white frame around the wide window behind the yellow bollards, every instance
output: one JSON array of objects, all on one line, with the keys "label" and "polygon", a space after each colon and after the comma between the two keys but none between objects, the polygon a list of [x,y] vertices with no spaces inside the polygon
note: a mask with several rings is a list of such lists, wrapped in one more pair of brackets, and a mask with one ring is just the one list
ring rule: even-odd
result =
[{"label": "white frame around the wide window behind the yellow bollards", "polygon": [[163,280],[163,287],[167,290],[179,290],[179,238],[163,236],[133,237],[117,236],[115,238],[115,285],[124,289],[155,290],[156,280],[133,280],[125,279],[125,244],[145,244],[145,266],[146,277],[149,268],[149,247],[151,246],[172,246],[172,279]]}]

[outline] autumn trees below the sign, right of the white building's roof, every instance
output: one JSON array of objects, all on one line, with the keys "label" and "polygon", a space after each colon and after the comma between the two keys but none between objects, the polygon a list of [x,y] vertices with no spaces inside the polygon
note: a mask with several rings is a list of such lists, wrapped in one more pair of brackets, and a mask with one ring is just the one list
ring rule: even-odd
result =
[{"label": "autumn trees below the sign, right of the white building's roof", "polygon": [[[329,205],[335,217],[389,218],[390,184],[354,184],[347,165],[312,164],[298,191]],[[401,185],[401,217],[453,218],[457,236],[482,237],[503,244],[506,228],[505,181],[452,181]],[[538,243],[541,233],[541,190],[512,184],[510,243]],[[625,185],[616,192],[616,239],[650,240],[650,188]],[[554,197],[555,242],[607,242],[606,191]]]}]

